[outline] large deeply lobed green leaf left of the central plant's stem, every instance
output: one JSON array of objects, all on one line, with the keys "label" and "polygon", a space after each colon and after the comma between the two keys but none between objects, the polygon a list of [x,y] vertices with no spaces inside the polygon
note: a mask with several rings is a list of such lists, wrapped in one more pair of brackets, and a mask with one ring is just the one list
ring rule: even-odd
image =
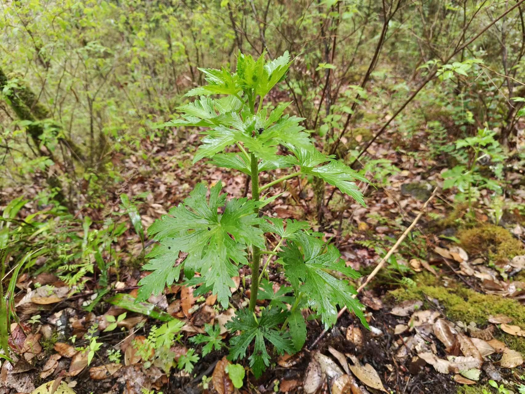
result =
[{"label": "large deeply lobed green leaf left of the central plant's stem", "polygon": [[[247,264],[246,248],[256,245],[264,248],[262,230],[264,220],[255,214],[256,201],[232,199],[220,194],[219,181],[209,191],[199,183],[182,204],[170,210],[150,226],[161,245],[149,254],[152,257],[144,269],[152,273],[141,279],[137,300],[159,294],[165,285],[178,280],[181,268],[186,274],[199,272],[199,282],[217,295],[219,303],[227,307],[234,287],[232,277],[238,275],[237,265]],[[224,213],[218,209],[224,206]],[[180,260],[179,252],[187,253]]]}]

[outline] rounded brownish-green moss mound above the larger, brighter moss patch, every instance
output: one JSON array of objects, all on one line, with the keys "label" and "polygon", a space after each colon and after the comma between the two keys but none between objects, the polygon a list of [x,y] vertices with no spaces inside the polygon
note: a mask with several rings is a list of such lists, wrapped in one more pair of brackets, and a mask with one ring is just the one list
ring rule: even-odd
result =
[{"label": "rounded brownish-green moss mound above the larger, brighter moss patch", "polygon": [[461,246],[470,254],[486,254],[493,262],[525,254],[521,241],[506,229],[493,224],[460,230]]}]

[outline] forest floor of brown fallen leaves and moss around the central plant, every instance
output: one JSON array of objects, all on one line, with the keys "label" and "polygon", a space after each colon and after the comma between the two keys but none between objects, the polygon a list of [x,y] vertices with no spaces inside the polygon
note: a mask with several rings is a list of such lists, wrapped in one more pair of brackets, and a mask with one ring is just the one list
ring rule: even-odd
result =
[{"label": "forest floor of brown fallen leaves and moss around the central plant", "polygon": [[[416,137],[424,140],[423,135]],[[196,136],[142,143],[144,151],[151,152],[148,159],[114,157],[115,162],[122,160],[125,181],[120,189],[107,193],[103,208],[86,210],[83,215],[102,220],[109,212],[119,210],[121,193],[149,192],[139,208],[147,227],[202,180],[214,184],[220,179],[229,196],[243,196],[244,176],[202,162],[191,163]],[[414,143],[420,142],[416,138]],[[366,208],[336,192],[324,212],[327,239],[333,237],[342,258],[364,275],[357,281],[358,286],[413,222],[439,185],[439,173],[446,165],[406,154],[402,149],[396,151],[381,142],[372,144],[369,152],[376,158],[392,160],[401,171],[387,175],[382,188],[366,188]],[[506,178],[516,188],[512,203],[525,203],[522,174],[509,171]],[[266,209],[283,218],[317,222],[313,191],[306,179],[290,180],[274,191],[283,194]],[[454,204],[453,196],[442,191],[430,201],[394,258],[358,297],[366,306],[371,330],[345,312],[321,337],[323,327],[317,320],[309,320],[303,350],[292,357],[275,356],[261,378],[255,380],[248,374],[238,391],[525,392],[525,386],[520,389],[525,383],[525,371],[519,367],[525,355],[525,218],[518,210],[498,213],[483,193],[480,203],[472,208],[475,217],[467,226],[466,210],[467,206]],[[498,225],[488,224],[495,215]],[[130,257],[113,273],[110,292],[134,296],[138,281],[145,275],[140,269],[142,245],[134,232],[124,235],[119,248]],[[146,251],[151,245],[146,239]],[[267,304],[286,282],[277,266],[270,267],[264,287],[268,299],[260,306]],[[216,297],[195,298],[185,288],[174,285],[165,294],[150,297],[148,301],[155,309],[147,309],[148,313],[146,308],[132,312],[108,303],[99,303],[87,312],[85,307],[100,291],[93,282],[70,294],[53,273],[22,275],[15,298],[20,322],[13,324],[9,338],[20,355],[14,365],[4,362],[0,394],[29,393],[50,379],[62,379],[77,394],[151,392],[142,389],[164,394],[234,392],[221,362],[227,355],[224,348],[202,357],[191,375],[178,370],[166,375],[159,366],[146,368],[130,345],[133,339],[147,337],[150,328],[159,324],[155,317],[165,314],[186,323],[180,345],[172,349],[175,354],[184,354],[195,346],[189,339],[204,333],[206,324],[218,323],[226,339],[224,324],[233,315],[233,307],[247,305],[249,269],[241,273],[230,309],[217,306]],[[103,331],[109,325],[107,316],[118,317],[124,312],[127,315],[117,329]],[[37,314],[39,322],[30,322]],[[80,338],[93,323],[98,323],[98,342],[102,346],[87,366],[87,353],[76,351],[69,338]],[[110,361],[108,349],[120,350],[122,359]],[[203,379],[211,376],[211,381]],[[503,382],[503,387],[494,389],[489,381]]]}]

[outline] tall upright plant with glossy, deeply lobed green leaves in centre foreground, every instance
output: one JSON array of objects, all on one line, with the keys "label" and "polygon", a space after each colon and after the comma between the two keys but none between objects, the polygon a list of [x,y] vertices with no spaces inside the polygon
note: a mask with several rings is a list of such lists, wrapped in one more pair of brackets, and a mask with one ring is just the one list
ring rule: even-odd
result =
[{"label": "tall upright plant with glossy, deeply lobed green leaves in centre foreground", "polygon": [[[278,354],[293,353],[304,345],[307,330],[302,310],[313,310],[329,327],[337,320],[337,307],[346,306],[367,326],[348,280],[360,275],[345,265],[337,248],[318,237],[322,234],[313,233],[306,222],[285,221],[260,211],[279,196],[265,194],[271,186],[303,175],[321,178],[364,205],[354,181],[367,182],[366,178],[318,151],[300,124],[303,119],[285,113],[290,102],[263,105],[268,92],[286,77],[290,64],[288,53],[271,61],[265,55],[254,59],[239,54],[235,72],[201,69],[208,84],[188,92],[187,96],[199,97],[178,108],[182,119],[163,125],[204,128],[193,161],[209,158],[210,164],[251,177],[251,198],[227,200],[220,181],[208,196],[206,186],[198,183],[188,198],[150,226],[148,234],[160,244],[143,266],[151,274],[139,282],[137,298],[139,302],[159,294],[183,273],[186,285],[197,286],[195,296],[211,291],[227,308],[232,278],[239,275],[240,267],[250,267],[249,307],[238,310],[226,327],[240,331],[230,339],[230,359],[244,358],[254,344],[248,360],[256,377],[270,364],[269,344]],[[237,150],[224,152],[230,147]],[[259,184],[261,172],[285,168],[290,169],[287,175]],[[266,250],[268,233],[280,239],[273,250]],[[259,292],[268,266],[260,267],[264,254],[269,255],[267,263],[277,255],[276,263],[290,282],[278,294],[266,282]],[[257,299],[270,300],[260,315]],[[213,339],[215,333],[210,330],[208,336]]]}]

